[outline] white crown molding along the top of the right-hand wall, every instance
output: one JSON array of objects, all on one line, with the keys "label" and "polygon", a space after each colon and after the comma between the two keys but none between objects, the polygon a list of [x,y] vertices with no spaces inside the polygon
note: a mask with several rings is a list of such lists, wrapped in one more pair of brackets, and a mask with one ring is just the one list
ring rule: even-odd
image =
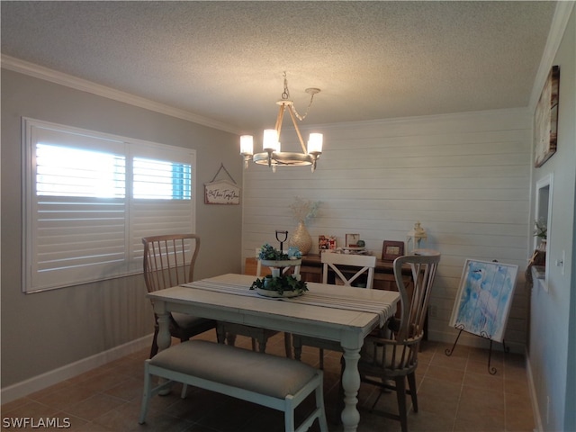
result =
[{"label": "white crown molding along the top of the right-hand wall", "polygon": [[[546,40],[546,45],[544,53],[542,54],[542,59],[540,60],[540,66],[536,72],[536,79],[534,81],[534,86],[532,87],[532,94],[530,94],[530,112],[536,110],[536,103],[540,98],[542,88],[544,87],[546,77],[550,73],[550,68],[554,66],[554,58],[556,57],[556,52],[560,47],[562,42],[564,32],[566,31],[566,26],[570,20],[570,15],[572,14],[572,9],[576,2],[573,1],[561,1],[556,4],[556,9],[554,10],[554,16],[552,17],[552,25],[550,26],[550,32],[548,33],[548,39]],[[561,72],[562,73],[562,72]]]}]

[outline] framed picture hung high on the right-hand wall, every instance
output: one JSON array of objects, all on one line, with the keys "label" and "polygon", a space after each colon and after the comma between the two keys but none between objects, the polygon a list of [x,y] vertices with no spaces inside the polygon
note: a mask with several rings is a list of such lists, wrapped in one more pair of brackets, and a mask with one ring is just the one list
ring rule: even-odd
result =
[{"label": "framed picture hung high on the right-hand wall", "polygon": [[558,132],[558,95],[560,89],[560,67],[553,66],[546,78],[544,89],[536,104],[534,114],[535,163],[545,164],[556,152]]}]

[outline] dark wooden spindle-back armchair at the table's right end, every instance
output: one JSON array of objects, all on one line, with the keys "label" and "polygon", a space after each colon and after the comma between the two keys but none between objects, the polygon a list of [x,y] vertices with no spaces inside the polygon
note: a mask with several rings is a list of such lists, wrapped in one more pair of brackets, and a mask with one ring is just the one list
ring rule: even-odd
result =
[{"label": "dark wooden spindle-back armchair at the table's right end", "polygon": [[[400,420],[402,432],[408,431],[407,394],[410,394],[412,409],[418,412],[415,372],[419,345],[424,336],[430,291],[440,262],[440,254],[436,251],[419,249],[415,252],[419,255],[403,256],[394,260],[394,277],[401,294],[400,320],[392,318],[389,321],[390,336],[378,337],[372,333],[366,337],[358,361],[358,371],[363,383],[374,384],[380,387],[382,392],[396,392],[398,414],[378,412],[384,417]],[[414,281],[411,301],[402,279],[402,266],[407,265],[411,268]],[[373,410],[382,392],[374,401]]]}]

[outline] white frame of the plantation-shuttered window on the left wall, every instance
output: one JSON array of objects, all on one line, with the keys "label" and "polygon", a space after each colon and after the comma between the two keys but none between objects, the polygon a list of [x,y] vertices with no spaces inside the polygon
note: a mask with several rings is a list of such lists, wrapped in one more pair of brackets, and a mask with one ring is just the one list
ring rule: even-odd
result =
[{"label": "white frame of the plantation-shuttered window on the left wall", "polygon": [[[126,159],[126,174],[125,174],[125,196],[124,198],[105,198],[103,201],[115,200],[116,202],[120,200],[120,205],[123,204],[123,227],[120,229],[123,231],[123,259],[121,259],[120,266],[106,266],[105,263],[96,263],[94,267],[102,266],[103,268],[109,268],[110,273],[103,272],[98,273],[97,277],[89,276],[90,272],[86,272],[85,279],[83,280],[72,280],[70,278],[63,280],[62,282],[54,283],[47,282],[42,284],[40,282],[41,275],[38,270],[37,264],[40,262],[38,259],[39,244],[40,240],[35,238],[37,232],[39,232],[38,227],[35,225],[36,221],[40,220],[38,212],[38,203],[46,195],[38,195],[36,193],[36,142],[40,139],[34,138],[34,133],[38,133],[38,130],[54,130],[66,137],[66,139],[77,139],[79,136],[87,137],[88,140],[95,139],[94,143],[105,141],[111,141],[112,144],[116,145],[118,148],[122,148],[122,154]],[[67,134],[70,134],[69,136]],[[76,137],[73,137],[76,135]],[[148,235],[157,234],[170,234],[175,233],[175,231],[182,231],[185,229],[186,232],[195,232],[196,225],[196,201],[198,198],[197,184],[196,184],[196,151],[191,148],[169,146],[166,144],[160,144],[152,141],[145,141],[141,139],[132,139],[127,137],[121,137],[118,135],[112,135],[104,132],[99,132],[96,130],[85,130],[80,128],[75,128],[72,126],[62,125],[58,123],[53,123],[49,121],[40,121],[32,119],[29,117],[22,118],[22,142],[23,142],[23,293],[39,293],[52,289],[65,288],[69,286],[81,285],[81,284],[92,284],[94,282],[115,279],[119,277],[125,277],[129,275],[138,275],[142,272],[142,255],[143,246],[141,244],[141,237],[146,237]],[[71,142],[71,141],[70,141]],[[76,147],[67,143],[69,147]],[[95,150],[101,150],[101,148],[93,146],[85,146],[81,144],[80,148],[92,148]],[[103,148],[102,148],[103,150]],[[167,156],[166,156],[167,155]],[[190,193],[191,198],[188,199],[163,199],[163,198],[134,198],[133,197],[133,187],[132,183],[134,181],[134,176],[132,173],[132,161],[135,157],[144,157],[162,160],[171,163],[182,163],[184,165],[191,166],[190,175]],[[49,202],[57,202],[58,195],[48,195],[50,198]],[[89,201],[86,197],[80,197],[79,202]],[[75,199],[70,199],[74,202]],[[166,211],[166,208],[168,211]],[[148,212],[147,212],[148,211]],[[162,214],[159,220],[155,220],[154,212],[157,214]],[[166,214],[166,216],[165,216]],[[139,216],[139,218],[137,218]],[[148,216],[148,219],[145,218]],[[165,218],[167,220],[172,220],[174,218],[174,224],[172,229],[166,229],[166,226],[170,226],[169,223],[165,223]],[[146,220],[144,224],[140,223],[139,220]],[[150,220],[154,220],[150,223]],[[138,236],[138,238],[137,238]],[[121,243],[121,241],[117,241]],[[84,268],[84,267],[81,267]],[[57,272],[62,272],[63,275],[68,275],[65,269],[57,269]],[[70,271],[74,273],[74,271]],[[80,271],[76,273],[80,274]],[[57,274],[57,273],[55,273]],[[84,277],[84,276],[80,276]],[[49,279],[49,278],[47,278]]]}]

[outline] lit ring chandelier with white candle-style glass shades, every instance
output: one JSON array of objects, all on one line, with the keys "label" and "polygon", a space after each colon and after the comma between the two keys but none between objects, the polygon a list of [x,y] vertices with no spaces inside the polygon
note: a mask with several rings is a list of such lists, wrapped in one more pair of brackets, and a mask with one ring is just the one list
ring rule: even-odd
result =
[{"label": "lit ring chandelier with white candle-style glass shades", "polygon": [[[280,105],[278,117],[276,118],[275,129],[264,130],[264,139],[262,141],[262,153],[254,154],[254,139],[252,135],[242,135],[240,137],[240,155],[244,157],[244,166],[248,167],[250,159],[254,160],[258,165],[267,165],[272,167],[276,172],[276,166],[307,166],[311,165],[312,172],[316,169],[316,161],[322,154],[322,134],[311,133],[308,139],[308,147],[304,146],[302,134],[298,128],[297,119],[302,121],[308,115],[308,110],[311,107],[314,94],[320,93],[320,88],[307,88],[306,93],[310,94],[310,103],[306,109],[306,113],[301,116],[294,107],[293,101],[290,100],[290,91],[288,90],[288,80],[284,72],[284,92],[282,99],[276,102]],[[300,145],[302,146],[302,153],[295,153],[290,151],[280,151],[280,132],[282,130],[282,121],[284,120],[284,112],[290,114],[294,130]]]}]

